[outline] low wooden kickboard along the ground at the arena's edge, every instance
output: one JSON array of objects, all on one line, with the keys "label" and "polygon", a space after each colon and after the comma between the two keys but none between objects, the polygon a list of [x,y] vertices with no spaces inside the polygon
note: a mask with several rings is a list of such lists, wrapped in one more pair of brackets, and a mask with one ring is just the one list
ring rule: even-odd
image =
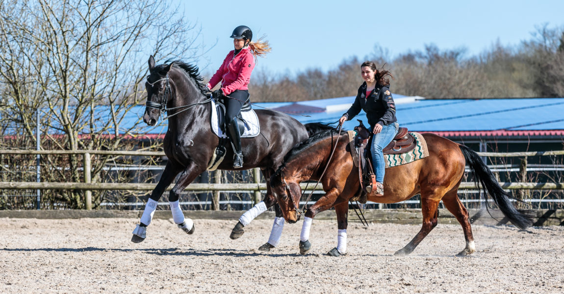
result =
[{"label": "low wooden kickboard along the ground at the arena's edge", "polygon": [[[140,217],[143,211],[111,211],[111,210],[5,210],[0,211],[0,217],[12,219],[83,219],[91,218],[134,218]],[[241,211],[184,211],[184,215],[191,219],[202,220],[237,220]],[[364,210],[364,217],[369,222],[393,224],[421,224],[422,213],[419,209],[396,210]],[[498,210],[468,210],[470,222],[479,225],[506,225],[510,224],[505,216]],[[490,215],[491,214],[491,215]],[[274,211],[267,211],[257,219],[274,219]],[[153,219],[170,219],[170,211],[159,210]],[[315,216],[316,220],[336,220],[333,211],[321,212]],[[349,211],[349,222],[360,222],[354,210]],[[455,217],[446,210],[439,209],[439,224],[457,224]],[[564,210],[537,210],[535,211],[534,226],[564,225]]]}]

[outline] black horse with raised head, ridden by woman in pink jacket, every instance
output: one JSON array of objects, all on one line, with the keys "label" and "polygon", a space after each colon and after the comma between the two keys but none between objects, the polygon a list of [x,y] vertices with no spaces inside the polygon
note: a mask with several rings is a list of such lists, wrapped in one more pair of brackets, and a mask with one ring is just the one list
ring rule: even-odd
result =
[{"label": "black horse with raised head, ridden by woman in pink jacket", "polygon": [[[151,55],[148,60],[149,75],[145,83],[147,103],[143,121],[155,126],[158,117],[168,114],[168,130],[163,141],[163,149],[168,157],[165,169],[158,184],[152,191],[143,211],[140,223],[136,226],[131,241],[142,242],[146,238],[147,225],[150,224],[156,203],[165,189],[180,173],[174,188],[169,194],[171,212],[174,222],[186,233],[193,233],[194,226],[190,219],[184,221],[178,199],[180,193],[198,175],[206,170],[208,163],[219,144],[219,137],[211,131],[211,104],[206,99],[206,89],[195,66],[173,61],[168,64],[155,65]],[[283,161],[284,154],[307,137],[305,126],[289,115],[273,110],[255,110],[260,133],[256,137],[241,138],[245,162],[237,170],[248,170],[259,167],[267,180],[267,193],[263,202],[257,204],[266,210],[276,203],[270,191],[270,176]],[[233,169],[233,150],[226,148],[225,159],[219,164],[220,170]],[[150,202],[150,203],[149,203]],[[281,212],[276,209],[277,216]],[[243,234],[243,226],[238,222],[235,233]],[[233,229],[235,230],[235,228]],[[265,244],[266,245],[266,244]]]}]

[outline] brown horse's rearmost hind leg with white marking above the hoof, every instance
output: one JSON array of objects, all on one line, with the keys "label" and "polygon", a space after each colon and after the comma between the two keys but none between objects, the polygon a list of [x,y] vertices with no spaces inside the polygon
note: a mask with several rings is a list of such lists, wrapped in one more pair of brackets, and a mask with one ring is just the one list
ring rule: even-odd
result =
[{"label": "brown horse's rearmost hind leg with white marking above the hoof", "polygon": [[472,236],[472,228],[470,228],[470,221],[468,216],[468,211],[466,207],[460,202],[457,195],[458,185],[455,188],[448,191],[443,197],[444,207],[456,217],[456,220],[460,222],[462,230],[464,231],[464,238],[466,239],[466,248],[460,251],[457,256],[466,256],[472,254],[476,251],[474,244],[474,237]]}]

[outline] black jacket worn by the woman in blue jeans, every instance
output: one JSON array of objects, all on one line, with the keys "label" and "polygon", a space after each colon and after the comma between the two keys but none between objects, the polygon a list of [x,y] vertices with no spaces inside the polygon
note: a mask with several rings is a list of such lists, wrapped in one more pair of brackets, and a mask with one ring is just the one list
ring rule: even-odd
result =
[{"label": "black jacket worn by the woman in blue jeans", "polygon": [[398,120],[395,118],[395,103],[394,99],[391,97],[389,86],[382,87],[377,84],[368,97],[366,97],[366,87],[366,82],[364,82],[360,88],[358,88],[354,103],[351,108],[343,114],[347,118],[347,121],[354,118],[360,112],[360,109],[362,109],[366,113],[371,129],[373,129],[377,123],[386,126],[387,124],[397,122]]}]

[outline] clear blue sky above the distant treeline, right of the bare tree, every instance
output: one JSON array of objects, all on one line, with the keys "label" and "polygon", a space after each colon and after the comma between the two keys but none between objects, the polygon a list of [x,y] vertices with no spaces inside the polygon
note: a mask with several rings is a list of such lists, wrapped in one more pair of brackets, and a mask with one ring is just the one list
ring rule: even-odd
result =
[{"label": "clear blue sky above the distant treeline, right of the bare tree", "polygon": [[487,50],[499,39],[504,46],[531,38],[535,26],[564,26],[564,1],[183,1],[184,15],[201,26],[205,44],[217,44],[199,66],[213,73],[232,50],[229,38],[247,25],[253,39],[266,34],[272,52],[255,70],[296,74],[306,68],[328,70],[343,59],[371,55],[374,45],[389,56],[422,50]]}]

